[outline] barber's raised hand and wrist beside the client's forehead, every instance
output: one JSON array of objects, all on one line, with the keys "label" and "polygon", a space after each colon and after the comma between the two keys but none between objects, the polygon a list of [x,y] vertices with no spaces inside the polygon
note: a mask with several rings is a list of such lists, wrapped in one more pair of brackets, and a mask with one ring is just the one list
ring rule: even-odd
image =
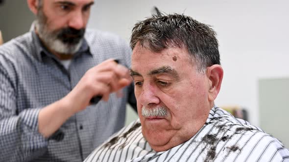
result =
[{"label": "barber's raised hand and wrist beside the client's forehead", "polygon": [[93,97],[102,96],[102,100],[108,101],[110,93],[119,91],[131,82],[129,70],[109,59],[89,69],[64,100],[71,104],[72,111],[76,113],[85,109]]}]

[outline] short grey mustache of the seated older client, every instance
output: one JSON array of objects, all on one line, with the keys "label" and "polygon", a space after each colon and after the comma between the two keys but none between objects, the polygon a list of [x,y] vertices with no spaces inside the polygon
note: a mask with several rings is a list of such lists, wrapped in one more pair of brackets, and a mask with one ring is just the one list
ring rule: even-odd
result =
[{"label": "short grey mustache of the seated older client", "polygon": [[166,117],[168,115],[167,109],[164,106],[155,108],[142,108],[143,117]]}]

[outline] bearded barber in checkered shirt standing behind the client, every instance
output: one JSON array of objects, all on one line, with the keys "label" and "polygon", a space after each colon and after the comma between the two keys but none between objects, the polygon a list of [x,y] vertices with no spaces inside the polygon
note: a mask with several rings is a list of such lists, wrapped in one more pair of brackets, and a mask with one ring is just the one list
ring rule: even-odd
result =
[{"label": "bearded barber in checkered shirt standing behind the client", "polygon": [[[0,161],[83,161],[124,126],[126,103],[136,105],[131,49],[85,31],[94,0],[27,3],[35,28],[0,46]],[[113,93],[123,87],[122,98]]]}]

